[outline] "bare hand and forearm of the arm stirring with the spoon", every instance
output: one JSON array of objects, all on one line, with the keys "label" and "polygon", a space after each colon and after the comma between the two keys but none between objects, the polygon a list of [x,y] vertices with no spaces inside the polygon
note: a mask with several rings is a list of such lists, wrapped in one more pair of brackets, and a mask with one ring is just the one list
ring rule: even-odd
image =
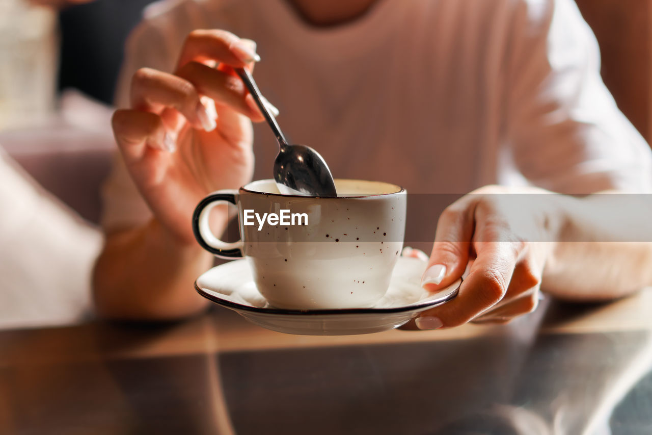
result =
[{"label": "bare hand and forearm of the arm stirring with the spoon", "polygon": [[[194,31],[174,74],[133,74],[130,108],[115,112],[113,133],[151,219],[107,231],[93,276],[99,315],[179,319],[205,307],[192,282],[211,266],[211,255],[194,240],[192,211],[211,191],[237,189],[252,176],[251,120],[263,118],[233,67],[252,68],[257,59],[252,41]],[[128,204],[119,208],[128,212]],[[226,227],[226,208],[211,216],[216,233]]]}]

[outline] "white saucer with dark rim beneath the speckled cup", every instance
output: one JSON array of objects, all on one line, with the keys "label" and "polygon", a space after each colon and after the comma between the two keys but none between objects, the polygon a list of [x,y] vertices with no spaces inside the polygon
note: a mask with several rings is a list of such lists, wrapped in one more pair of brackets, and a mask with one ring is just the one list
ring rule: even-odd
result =
[{"label": "white saucer with dark rim beneath the speckled cup", "polygon": [[462,280],[437,293],[421,287],[424,261],[399,257],[387,294],[372,308],[337,310],[284,310],[269,306],[258,293],[246,260],[231,261],[202,274],[197,292],[218,305],[230,308],[248,321],[286,334],[369,334],[398,328],[419,312],[456,297]]}]

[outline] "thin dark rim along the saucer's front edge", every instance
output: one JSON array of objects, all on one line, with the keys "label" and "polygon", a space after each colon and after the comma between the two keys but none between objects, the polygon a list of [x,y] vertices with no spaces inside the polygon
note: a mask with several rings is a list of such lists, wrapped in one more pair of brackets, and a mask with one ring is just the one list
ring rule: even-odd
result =
[{"label": "thin dark rim along the saucer's front edge", "polygon": [[[290,196],[290,195],[288,195]],[[428,308],[430,306],[443,304],[443,302],[448,302],[452,298],[456,297],[460,292],[460,286],[464,280],[460,278],[460,285],[456,287],[451,293],[444,295],[440,298],[428,300],[418,304],[411,304],[406,306],[398,306],[394,308],[332,308],[329,310],[288,310],[286,308],[260,308],[257,306],[237,304],[236,302],[231,302],[230,300],[225,300],[216,296],[213,296],[203,289],[201,289],[197,282],[195,281],[195,291],[201,296],[215,302],[218,305],[224,306],[226,308],[232,308],[234,310],[243,310],[259,314],[284,314],[284,315],[332,315],[332,314],[394,314],[408,312],[412,310],[419,310],[419,308]]]}]

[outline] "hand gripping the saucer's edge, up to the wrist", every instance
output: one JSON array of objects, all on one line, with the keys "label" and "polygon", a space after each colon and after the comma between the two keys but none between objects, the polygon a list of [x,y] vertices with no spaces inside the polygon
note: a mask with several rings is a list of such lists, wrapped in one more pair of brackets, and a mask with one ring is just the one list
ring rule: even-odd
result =
[{"label": "hand gripping the saucer's edge, up to the wrist", "polygon": [[436,291],[467,268],[468,274],[456,298],[417,317],[419,329],[506,323],[535,310],[544,266],[563,223],[560,195],[545,193],[482,187],[441,214],[422,284]]}]

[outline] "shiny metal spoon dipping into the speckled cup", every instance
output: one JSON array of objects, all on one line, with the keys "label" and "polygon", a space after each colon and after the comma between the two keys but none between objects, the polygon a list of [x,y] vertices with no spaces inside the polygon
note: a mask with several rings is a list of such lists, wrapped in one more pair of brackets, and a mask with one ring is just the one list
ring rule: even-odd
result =
[{"label": "shiny metal spoon dipping into the speckled cup", "polygon": [[336,197],[333,175],[323,157],[306,145],[289,145],[281,132],[276,118],[269,112],[251,73],[244,68],[235,72],[242,78],[253,95],[258,108],[271,127],[280,151],[274,161],[274,181],[280,193],[286,195],[308,195],[311,197]]}]

